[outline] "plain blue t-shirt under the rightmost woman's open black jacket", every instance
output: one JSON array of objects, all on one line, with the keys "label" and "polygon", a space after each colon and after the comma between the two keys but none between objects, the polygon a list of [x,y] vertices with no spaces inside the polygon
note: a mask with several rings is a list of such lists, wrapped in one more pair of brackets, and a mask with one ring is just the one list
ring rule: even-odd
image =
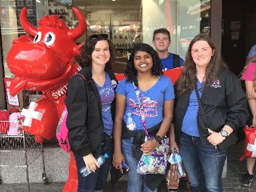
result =
[{"label": "plain blue t-shirt under the rightmost woman's open black jacket", "polygon": [[[198,93],[201,98],[204,82],[201,83],[197,81],[197,85],[198,85]],[[199,105],[198,105],[197,94],[195,93],[195,90],[193,90],[192,93],[190,94],[189,106],[187,107],[186,114],[183,118],[182,132],[194,137],[199,137],[198,107]]]}]

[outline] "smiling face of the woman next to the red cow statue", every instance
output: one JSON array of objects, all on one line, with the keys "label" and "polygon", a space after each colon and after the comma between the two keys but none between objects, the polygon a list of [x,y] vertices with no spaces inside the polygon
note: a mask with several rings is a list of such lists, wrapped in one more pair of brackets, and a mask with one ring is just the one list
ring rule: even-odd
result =
[{"label": "smiling face of the woman next to the red cow statue", "polygon": [[110,61],[110,46],[106,40],[98,41],[95,44],[91,59],[94,66],[105,66],[106,62]]}]

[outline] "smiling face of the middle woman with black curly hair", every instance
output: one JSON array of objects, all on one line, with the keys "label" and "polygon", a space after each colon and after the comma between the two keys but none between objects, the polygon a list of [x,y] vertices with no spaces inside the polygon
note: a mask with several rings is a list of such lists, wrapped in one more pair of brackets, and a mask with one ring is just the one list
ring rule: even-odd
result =
[{"label": "smiling face of the middle woman with black curly hair", "polygon": [[151,54],[146,51],[138,50],[134,54],[134,67],[138,72],[150,72],[153,67],[153,59]]}]

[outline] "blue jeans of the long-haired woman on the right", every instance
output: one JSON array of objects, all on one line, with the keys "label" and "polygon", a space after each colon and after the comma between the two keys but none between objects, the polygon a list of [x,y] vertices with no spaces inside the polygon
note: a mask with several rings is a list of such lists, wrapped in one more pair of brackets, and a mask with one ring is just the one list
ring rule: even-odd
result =
[{"label": "blue jeans of the long-haired woman on the right", "polygon": [[179,146],[192,192],[222,192],[222,170],[226,151],[209,142],[182,133]]}]

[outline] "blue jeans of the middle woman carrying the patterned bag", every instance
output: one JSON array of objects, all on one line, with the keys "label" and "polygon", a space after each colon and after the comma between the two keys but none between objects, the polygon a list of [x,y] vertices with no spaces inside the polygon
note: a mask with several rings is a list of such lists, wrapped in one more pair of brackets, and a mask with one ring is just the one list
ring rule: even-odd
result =
[{"label": "blue jeans of the middle woman carrying the patterned bag", "polygon": [[[144,192],[151,192],[146,184],[143,182],[144,176],[137,173],[138,160],[133,157],[133,140],[132,139],[122,139],[122,154],[126,158],[126,164],[129,166],[130,170],[128,171],[128,189],[127,192],[141,192],[142,184]],[[158,190],[154,190],[157,192]]]}]

